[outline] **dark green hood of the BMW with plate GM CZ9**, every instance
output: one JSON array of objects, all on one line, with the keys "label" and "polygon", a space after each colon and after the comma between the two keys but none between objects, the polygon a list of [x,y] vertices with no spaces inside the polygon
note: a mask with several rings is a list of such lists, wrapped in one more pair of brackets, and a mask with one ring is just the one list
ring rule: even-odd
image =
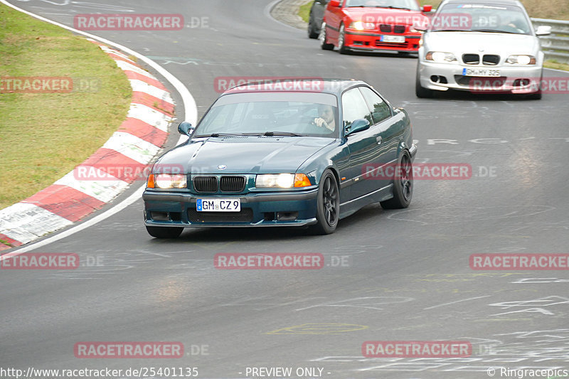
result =
[{"label": "dark green hood of the BMW with plate GM CZ9", "polygon": [[[208,137],[188,141],[161,156],[157,166],[188,174],[293,173],[324,146],[324,137]],[[220,170],[218,166],[227,166]]]}]

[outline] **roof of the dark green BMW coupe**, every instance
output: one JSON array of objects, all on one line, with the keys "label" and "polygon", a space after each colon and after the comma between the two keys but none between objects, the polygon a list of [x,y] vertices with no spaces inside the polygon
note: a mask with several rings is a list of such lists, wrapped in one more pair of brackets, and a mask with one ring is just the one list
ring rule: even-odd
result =
[{"label": "roof of the dark green BMW coupe", "polygon": [[253,92],[314,92],[329,93],[339,96],[342,92],[358,85],[368,85],[362,80],[355,79],[330,79],[330,78],[275,78],[257,80],[231,87],[223,92],[223,95],[235,93]]}]

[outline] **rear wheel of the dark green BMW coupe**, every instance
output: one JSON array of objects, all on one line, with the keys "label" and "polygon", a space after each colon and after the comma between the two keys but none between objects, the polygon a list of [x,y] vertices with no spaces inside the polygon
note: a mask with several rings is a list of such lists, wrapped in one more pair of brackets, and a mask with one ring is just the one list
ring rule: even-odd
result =
[{"label": "rear wheel of the dark green BMW coupe", "polygon": [[381,201],[383,209],[407,208],[413,198],[413,161],[408,150],[403,150],[393,176],[393,198]]}]

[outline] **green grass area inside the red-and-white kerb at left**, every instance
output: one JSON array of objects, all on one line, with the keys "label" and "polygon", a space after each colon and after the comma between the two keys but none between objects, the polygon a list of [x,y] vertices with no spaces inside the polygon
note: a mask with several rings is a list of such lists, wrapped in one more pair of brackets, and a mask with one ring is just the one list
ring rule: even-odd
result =
[{"label": "green grass area inside the red-and-white kerb at left", "polygon": [[105,144],[132,97],[122,70],[94,43],[4,5],[0,76],[98,84],[84,93],[0,93],[0,209],[50,186]]}]

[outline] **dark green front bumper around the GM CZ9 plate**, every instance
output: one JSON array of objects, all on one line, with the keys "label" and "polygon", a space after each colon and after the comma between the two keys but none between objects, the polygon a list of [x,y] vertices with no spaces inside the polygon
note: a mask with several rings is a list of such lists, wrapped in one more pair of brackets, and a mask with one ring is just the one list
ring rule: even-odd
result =
[{"label": "dark green front bumper around the GM CZ9 plate", "polygon": [[[144,224],[162,227],[304,226],[317,222],[318,188],[248,194],[204,194],[153,191],[147,188]],[[239,198],[240,212],[198,212],[198,198]]]}]

